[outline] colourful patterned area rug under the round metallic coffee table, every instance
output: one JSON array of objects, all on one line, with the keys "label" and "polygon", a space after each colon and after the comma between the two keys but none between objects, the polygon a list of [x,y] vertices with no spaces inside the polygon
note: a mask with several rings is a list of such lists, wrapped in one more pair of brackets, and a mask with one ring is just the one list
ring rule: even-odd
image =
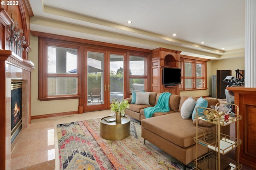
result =
[{"label": "colourful patterned area rug under the round metallic coffee table", "polygon": [[[57,125],[60,170],[182,170],[180,161],[150,142],[144,145],[139,122],[120,141],[100,137],[100,119]],[[190,167],[191,166],[191,167]],[[192,169],[188,164],[187,169]]]}]

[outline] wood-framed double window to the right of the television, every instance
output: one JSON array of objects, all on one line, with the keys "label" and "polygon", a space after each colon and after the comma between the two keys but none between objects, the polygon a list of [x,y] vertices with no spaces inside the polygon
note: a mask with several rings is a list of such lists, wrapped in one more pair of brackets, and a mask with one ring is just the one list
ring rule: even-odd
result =
[{"label": "wood-framed double window to the right of the television", "polygon": [[207,59],[199,59],[180,55],[182,76],[181,90],[205,90],[207,88],[206,62]]}]

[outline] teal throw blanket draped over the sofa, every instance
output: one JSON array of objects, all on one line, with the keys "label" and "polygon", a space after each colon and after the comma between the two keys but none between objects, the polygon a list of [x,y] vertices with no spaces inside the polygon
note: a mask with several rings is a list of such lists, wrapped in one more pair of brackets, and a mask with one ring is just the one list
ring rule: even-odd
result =
[{"label": "teal throw blanket draped over the sofa", "polygon": [[154,107],[147,107],[144,109],[144,115],[146,118],[152,117],[156,112],[168,112],[170,111],[169,108],[169,98],[172,94],[169,92],[164,92],[160,94],[156,106]]}]

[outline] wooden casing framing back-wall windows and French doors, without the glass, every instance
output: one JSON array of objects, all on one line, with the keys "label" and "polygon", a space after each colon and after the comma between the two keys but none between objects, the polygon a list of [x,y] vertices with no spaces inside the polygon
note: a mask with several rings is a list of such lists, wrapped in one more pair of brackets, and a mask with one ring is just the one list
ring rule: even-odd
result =
[{"label": "wooden casing framing back-wall windows and French doors, without the glass", "polygon": [[[127,56],[137,56],[137,57],[145,57],[145,75],[129,75],[129,57],[126,57],[124,60],[124,72],[126,72],[126,76],[124,77],[124,81],[128,82],[129,78],[144,78],[145,90],[149,91],[150,89],[150,70],[149,66],[151,59],[151,50],[141,49],[136,47],[128,47],[123,45],[115,45],[110,43],[102,43],[98,41],[91,41],[86,39],[79,39],[67,36],[54,35],[49,33],[42,33],[37,31],[31,31],[32,35],[38,36],[38,100],[40,101],[48,101],[48,100],[64,100],[64,99],[79,99],[79,103],[82,106],[84,97],[84,86],[85,83],[85,51],[86,49],[95,49],[95,50],[105,50],[105,51],[116,51],[126,53]],[[47,72],[47,47],[55,46],[55,47],[66,47],[77,49],[77,74],[48,74]],[[77,77],[78,86],[77,86],[77,94],[68,94],[68,95],[53,95],[48,96],[47,89],[47,77]],[[130,97],[130,88],[129,83],[124,84],[124,98]],[[82,111],[81,111],[82,112]]]}]

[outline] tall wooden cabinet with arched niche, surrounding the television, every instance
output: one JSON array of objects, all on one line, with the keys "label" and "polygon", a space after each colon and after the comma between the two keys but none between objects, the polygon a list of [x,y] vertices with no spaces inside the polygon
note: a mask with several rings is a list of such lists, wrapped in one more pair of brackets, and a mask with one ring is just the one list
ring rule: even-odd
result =
[{"label": "tall wooden cabinet with arched niche, surrounding the television", "polygon": [[170,92],[172,94],[180,94],[180,86],[163,85],[163,67],[180,68],[180,53],[165,48],[152,50],[151,59],[151,91],[152,92]]}]

